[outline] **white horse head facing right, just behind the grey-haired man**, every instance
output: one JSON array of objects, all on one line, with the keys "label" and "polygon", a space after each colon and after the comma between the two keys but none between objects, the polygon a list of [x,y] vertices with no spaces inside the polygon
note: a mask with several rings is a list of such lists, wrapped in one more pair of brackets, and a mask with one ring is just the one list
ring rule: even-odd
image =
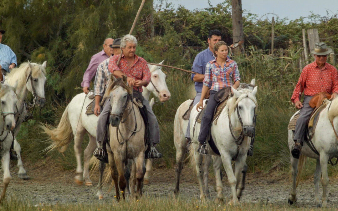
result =
[{"label": "white horse head facing right, just behind the grey-haired man", "polygon": [[[159,64],[164,62],[161,61]],[[161,102],[169,100],[171,94],[166,84],[166,74],[162,72],[161,66],[148,64],[151,73],[151,82],[146,89],[158,96]]]}]

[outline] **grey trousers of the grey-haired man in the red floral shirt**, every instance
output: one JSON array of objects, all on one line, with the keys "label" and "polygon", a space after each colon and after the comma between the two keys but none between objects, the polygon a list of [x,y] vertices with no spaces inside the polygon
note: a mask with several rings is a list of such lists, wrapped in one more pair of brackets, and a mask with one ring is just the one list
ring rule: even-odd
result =
[{"label": "grey trousers of the grey-haired man in the red floral shirt", "polygon": [[[157,122],[154,112],[152,112],[149,101],[144,99],[143,105],[147,108],[150,143],[155,146],[155,144],[160,142],[159,123]],[[97,121],[96,144],[98,147],[103,144],[104,138],[106,137],[106,128],[109,124],[110,110],[110,99],[107,99],[99,115],[99,120]]]}]

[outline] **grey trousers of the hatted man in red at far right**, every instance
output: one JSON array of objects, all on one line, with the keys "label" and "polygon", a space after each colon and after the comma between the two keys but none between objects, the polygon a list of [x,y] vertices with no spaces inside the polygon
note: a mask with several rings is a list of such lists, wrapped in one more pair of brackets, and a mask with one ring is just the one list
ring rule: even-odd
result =
[{"label": "grey trousers of the hatted man in red at far right", "polygon": [[310,115],[312,111],[314,110],[314,108],[312,108],[309,105],[309,102],[312,99],[312,97],[313,96],[308,96],[308,95],[304,97],[303,108],[301,108],[299,112],[300,115],[296,123],[296,129],[295,129],[295,133],[293,136],[293,140],[299,139],[300,142],[304,141],[304,135],[305,135],[306,127],[307,127],[306,123],[308,122]]}]

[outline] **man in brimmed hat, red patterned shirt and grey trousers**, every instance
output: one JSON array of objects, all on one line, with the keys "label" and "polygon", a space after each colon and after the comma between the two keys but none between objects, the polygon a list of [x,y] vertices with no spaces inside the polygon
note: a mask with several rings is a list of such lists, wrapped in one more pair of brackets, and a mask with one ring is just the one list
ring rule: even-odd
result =
[{"label": "man in brimmed hat, red patterned shirt and grey trousers", "polygon": [[[315,61],[304,67],[291,97],[291,101],[295,104],[296,108],[300,109],[293,137],[295,145],[291,150],[294,158],[299,158],[307,121],[314,110],[309,105],[312,97],[320,92],[332,94],[331,99],[334,99],[338,95],[337,69],[326,62],[332,49],[328,48],[325,43],[316,43],[315,48],[310,52],[314,54]],[[303,91],[305,97],[303,103],[301,103],[300,95]]]}]

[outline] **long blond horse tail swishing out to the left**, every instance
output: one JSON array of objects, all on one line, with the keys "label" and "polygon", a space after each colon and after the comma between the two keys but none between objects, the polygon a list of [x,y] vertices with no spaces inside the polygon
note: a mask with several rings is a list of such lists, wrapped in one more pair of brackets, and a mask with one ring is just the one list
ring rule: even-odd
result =
[{"label": "long blond horse tail swishing out to the left", "polygon": [[50,136],[52,139],[52,143],[49,147],[45,149],[45,151],[51,151],[57,148],[57,150],[61,153],[65,152],[68,147],[68,144],[73,140],[73,130],[70,125],[70,121],[68,118],[68,107],[67,105],[64,113],[62,114],[61,120],[57,126],[57,128],[53,128],[51,126],[42,125],[42,129],[44,133]]}]

